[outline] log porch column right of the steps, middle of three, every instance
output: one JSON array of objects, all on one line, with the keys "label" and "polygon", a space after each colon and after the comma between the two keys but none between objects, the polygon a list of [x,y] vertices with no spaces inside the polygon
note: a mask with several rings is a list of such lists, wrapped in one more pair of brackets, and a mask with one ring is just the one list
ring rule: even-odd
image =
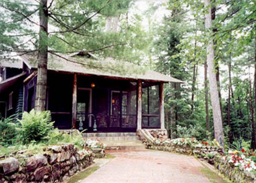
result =
[{"label": "log porch column right of the steps, middle of three", "polygon": [[139,79],[137,82],[138,96],[137,96],[137,130],[141,130],[142,123],[142,82]]}]

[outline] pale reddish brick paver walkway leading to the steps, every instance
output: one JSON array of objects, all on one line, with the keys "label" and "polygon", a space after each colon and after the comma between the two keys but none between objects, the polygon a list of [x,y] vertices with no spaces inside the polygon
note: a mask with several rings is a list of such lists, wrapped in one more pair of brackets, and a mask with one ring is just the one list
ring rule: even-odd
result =
[{"label": "pale reddish brick paver walkway leading to the steps", "polygon": [[111,154],[116,158],[80,183],[210,183],[192,156],[154,150]]}]

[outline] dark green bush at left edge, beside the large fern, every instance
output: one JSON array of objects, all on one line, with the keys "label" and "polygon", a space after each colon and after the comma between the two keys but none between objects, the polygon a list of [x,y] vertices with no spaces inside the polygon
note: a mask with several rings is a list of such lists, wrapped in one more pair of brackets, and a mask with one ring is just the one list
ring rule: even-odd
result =
[{"label": "dark green bush at left edge, beside the large fern", "polygon": [[19,126],[17,125],[17,115],[0,120],[0,145],[11,146],[17,143]]}]

